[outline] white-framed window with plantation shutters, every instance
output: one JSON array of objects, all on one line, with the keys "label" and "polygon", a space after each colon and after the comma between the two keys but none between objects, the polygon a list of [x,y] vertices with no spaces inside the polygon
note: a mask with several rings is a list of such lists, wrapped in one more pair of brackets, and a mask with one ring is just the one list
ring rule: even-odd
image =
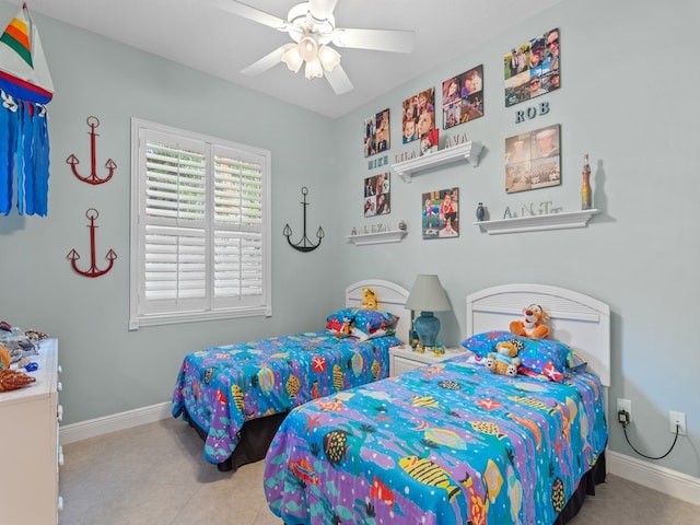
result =
[{"label": "white-framed window with plantation shutters", "polygon": [[270,152],[131,121],[129,329],[271,315]]}]

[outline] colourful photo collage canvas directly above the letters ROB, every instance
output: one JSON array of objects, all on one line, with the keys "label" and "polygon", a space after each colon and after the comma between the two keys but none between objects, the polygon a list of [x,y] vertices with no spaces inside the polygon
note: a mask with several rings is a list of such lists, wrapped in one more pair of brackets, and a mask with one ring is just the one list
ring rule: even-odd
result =
[{"label": "colourful photo collage canvas directly above the letters ROB", "polygon": [[559,28],[511,48],[503,56],[505,107],[558,90],[559,67]]}]

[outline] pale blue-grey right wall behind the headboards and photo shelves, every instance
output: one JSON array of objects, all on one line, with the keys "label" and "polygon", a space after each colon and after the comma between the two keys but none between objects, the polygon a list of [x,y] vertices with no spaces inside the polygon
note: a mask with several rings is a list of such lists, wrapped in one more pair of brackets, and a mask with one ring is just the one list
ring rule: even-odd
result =
[{"label": "pale blue-grey right wall behind the headboards and photo shelves", "polygon": [[[462,163],[424,172],[410,184],[393,175],[392,213],[385,217],[394,228],[405,220],[410,233],[400,244],[378,246],[355,247],[340,240],[346,281],[369,271],[410,287],[417,273],[436,272],[454,307],[451,314],[438,314],[443,322],[441,337],[450,345],[465,334],[465,296],[485,287],[541,282],[608,303],[611,413],[617,397],[632,400],[634,423],[628,434],[638,450],[653,456],[666,452],[673,441],[668,411],[686,412],[688,438],[657,463],[696,477],[700,476],[700,352],[695,329],[700,292],[698,20],[700,2],[695,0],[673,7],[649,0],[564,1],[377,98],[339,120],[336,129],[337,143],[358,143],[362,119],[388,107],[393,118],[388,154],[394,162],[396,155],[412,150],[400,141],[401,101],[427,88],[439,89],[443,80],[483,63],[485,117],[448,130],[485,144],[480,165]],[[535,100],[550,104],[548,115],[515,124],[515,110],[535,104],[504,107],[502,57],[514,44],[552,27],[561,30],[562,88]],[[506,195],[504,139],[551,124],[561,124],[562,185]],[[565,211],[580,209],[585,152],[593,164],[595,206],[603,210],[588,228],[490,236],[471,224],[479,201],[495,219],[503,217],[506,206],[520,209],[544,200],[553,200]],[[353,226],[380,222],[362,218],[362,182],[383,171],[368,170],[360,148],[343,148],[339,155],[337,195],[347,206],[341,208],[338,236],[348,235]],[[420,197],[450,187],[459,188],[459,237],[423,241]],[[639,458],[617,423],[610,434],[611,450]]]}]

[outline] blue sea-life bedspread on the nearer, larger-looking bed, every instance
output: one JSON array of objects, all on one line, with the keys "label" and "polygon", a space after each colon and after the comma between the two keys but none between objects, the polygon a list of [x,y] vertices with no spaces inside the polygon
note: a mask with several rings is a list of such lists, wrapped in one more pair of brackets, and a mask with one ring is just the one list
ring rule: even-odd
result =
[{"label": "blue sea-life bedspread on the nearer, larger-looking bed", "polygon": [[299,407],[266,457],[288,524],[551,524],[607,442],[599,380],[456,357]]}]

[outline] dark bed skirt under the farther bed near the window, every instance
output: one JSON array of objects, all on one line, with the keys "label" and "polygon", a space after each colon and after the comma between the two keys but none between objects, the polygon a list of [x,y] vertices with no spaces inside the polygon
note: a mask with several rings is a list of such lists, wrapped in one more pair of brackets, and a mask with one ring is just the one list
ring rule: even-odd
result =
[{"label": "dark bed skirt under the farther bed near the window", "polygon": [[[243,465],[265,459],[267,450],[270,443],[272,443],[272,438],[275,438],[277,429],[280,428],[280,424],[282,424],[288,413],[289,412],[275,413],[265,418],[246,421],[241,428],[241,440],[233,450],[233,454],[231,454],[225,462],[217,464],[217,468],[222,472],[229,470],[235,471]],[[202,441],[207,441],[207,432],[192,421],[187,410],[183,410],[182,416],[183,419],[197,431]]]}]

